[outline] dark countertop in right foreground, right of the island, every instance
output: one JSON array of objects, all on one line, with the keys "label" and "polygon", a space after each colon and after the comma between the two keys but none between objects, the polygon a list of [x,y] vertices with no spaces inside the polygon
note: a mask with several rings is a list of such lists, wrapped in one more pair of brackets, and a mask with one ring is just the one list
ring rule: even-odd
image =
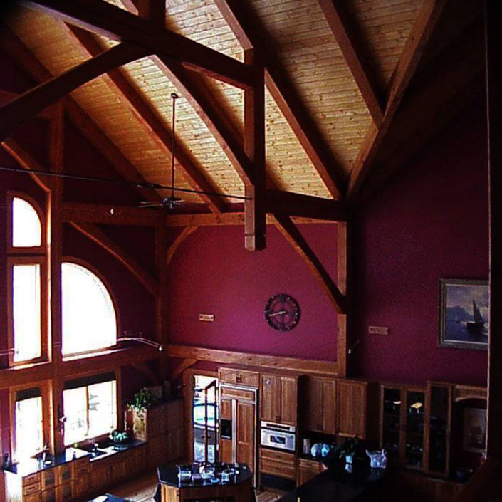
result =
[{"label": "dark countertop in right foreground, right of the island", "polygon": [[378,501],[385,469],[361,469],[347,474],[342,469],[328,469],[302,486],[287,493],[278,502],[362,502]]}]

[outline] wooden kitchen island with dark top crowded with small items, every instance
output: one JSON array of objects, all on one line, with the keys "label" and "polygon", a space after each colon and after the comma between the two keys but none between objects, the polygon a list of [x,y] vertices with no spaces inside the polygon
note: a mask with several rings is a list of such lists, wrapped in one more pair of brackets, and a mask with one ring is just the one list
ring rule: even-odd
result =
[{"label": "wooden kitchen island with dark top crowded with small items", "polygon": [[204,501],[219,498],[234,502],[255,500],[253,472],[246,464],[239,464],[238,471],[229,477],[229,481],[222,479],[218,470],[212,479],[202,479],[196,474],[186,481],[178,479],[177,467],[159,467],[157,472],[162,487],[162,502]]}]

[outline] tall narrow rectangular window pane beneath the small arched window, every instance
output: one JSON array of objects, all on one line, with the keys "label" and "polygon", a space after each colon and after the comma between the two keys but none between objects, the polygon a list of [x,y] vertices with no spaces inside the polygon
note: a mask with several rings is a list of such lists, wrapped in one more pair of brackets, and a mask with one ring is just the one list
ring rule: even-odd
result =
[{"label": "tall narrow rectangular window pane beneath the small arched window", "polygon": [[40,265],[14,265],[14,361],[41,356]]}]

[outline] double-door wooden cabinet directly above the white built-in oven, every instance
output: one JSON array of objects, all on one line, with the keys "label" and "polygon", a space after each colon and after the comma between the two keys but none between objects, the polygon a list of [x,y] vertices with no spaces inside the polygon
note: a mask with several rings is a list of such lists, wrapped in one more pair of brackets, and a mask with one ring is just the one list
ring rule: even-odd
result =
[{"label": "double-door wooden cabinet directly above the white built-in oven", "polygon": [[298,422],[298,376],[263,373],[260,376],[260,419],[295,425]]}]

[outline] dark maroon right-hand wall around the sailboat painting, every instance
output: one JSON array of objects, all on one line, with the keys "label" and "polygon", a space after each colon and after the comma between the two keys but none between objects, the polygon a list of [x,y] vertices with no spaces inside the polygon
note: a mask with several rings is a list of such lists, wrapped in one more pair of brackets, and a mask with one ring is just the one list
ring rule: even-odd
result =
[{"label": "dark maroon right-hand wall around the sailboat painting", "polygon": [[[486,383],[486,352],[438,347],[439,278],[488,278],[483,103],[359,212],[357,371],[379,380]],[[367,335],[368,325],[390,334]]]}]

